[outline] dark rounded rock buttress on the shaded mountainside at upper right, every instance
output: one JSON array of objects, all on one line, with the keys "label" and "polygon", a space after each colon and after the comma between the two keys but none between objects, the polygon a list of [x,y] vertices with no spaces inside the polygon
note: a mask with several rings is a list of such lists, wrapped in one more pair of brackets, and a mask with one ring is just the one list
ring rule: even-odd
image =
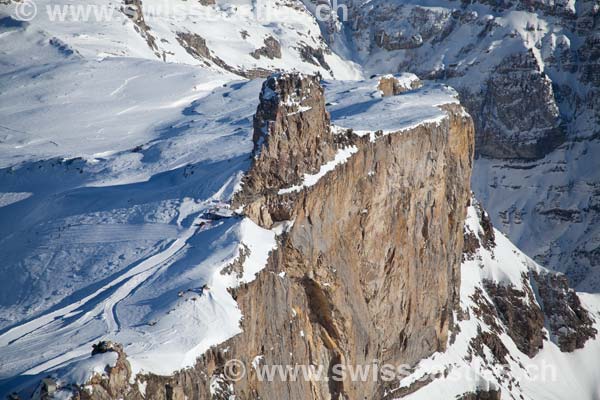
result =
[{"label": "dark rounded rock buttress on the shaded mountainside at upper right", "polygon": [[538,159],[565,141],[552,81],[533,52],[502,60],[483,96],[464,93],[475,113],[477,152],[492,158]]}]

